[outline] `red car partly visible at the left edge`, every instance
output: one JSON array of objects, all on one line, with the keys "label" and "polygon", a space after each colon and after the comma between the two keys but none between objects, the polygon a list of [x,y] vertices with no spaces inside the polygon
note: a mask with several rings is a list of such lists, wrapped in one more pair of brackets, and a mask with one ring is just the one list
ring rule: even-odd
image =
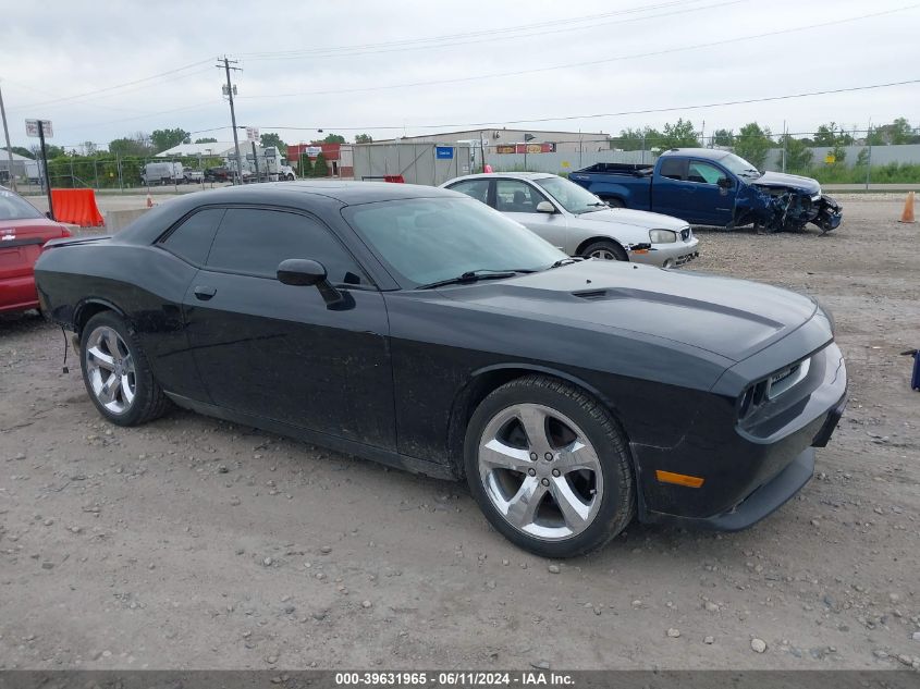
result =
[{"label": "red car partly visible at the left edge", "polygon": [[35,261],[48,239],[69,236],[66,226],[0,186],[0,313],[38,308]]}]

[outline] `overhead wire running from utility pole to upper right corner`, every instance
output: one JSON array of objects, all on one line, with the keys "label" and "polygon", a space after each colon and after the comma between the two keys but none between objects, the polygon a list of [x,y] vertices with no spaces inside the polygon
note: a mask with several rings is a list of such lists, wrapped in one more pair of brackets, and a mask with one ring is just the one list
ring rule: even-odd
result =
[{"label": "overhead wire running from utility pole to upper right corner", "polygon": [[755,34],[755,35],[750,35],[750,36],[740,36],[740,37],[737,37],[737,38],[726,38],[724,40],[715,40],[715,41],[710,41],[710,42],[704,42],[704,44],[696,44],[696,45],[691,45],[691,46],[680,46],[680,47],[677,47],[677,48],[666,48],[666,49],[663,49],[663,50],[655,50],[655,51],[645,52],[645,53],[630,53],[628,56],[617,56],[617,57],[614,57],[614,58],[603,58],[603,59],[599,59],[599,60],[586,60],[586,61],[581,61],[581,62],[568,62],[568,63],[564,63],[564,64],[548,65],[548,66],[543,66],[543,67],[532,67],[532,69],[527,69],[527,70],[515,70],[515,71],[511,71],[511,72],[493,72],[493,73],[489,73],[489,74],[478,74],[478,75],[475,75],[475,76],[463,76],[463,77],[455,77],[455,78],[450,78],[450,79],[432,79],[432,81],[427,81],[427,82],[410,82],[410,83],[405,83],[405,84],[389,84],[389,85],[383,85],[383,86],[366,86],[366,87],[360,87],[360,88],[328,89],[328,90],[318,90],[318,91],[298,91],[298,93],[291,93],[291,94],[270,94],[270,95],[265,95],[265,96],[241,96],[241,98],[247,98],[247,99],[250,99],[250,98],[252,99],[257,99],[257,98],[259,98],[259,99],[265,99],[265,98],[299,98],[299,97],[304,97],[304,96],[329,96],[329,95],[341,95],[341,94],[357,94],[357,93],[367,93],[367,91],[388,90],[388,89],[393,89],[393,88],[409,88],[409,87],[416,87],[416,86],[437,86],[437,85],[442,85],[442,84],[459,84],[459,83],[465,83],[465,82],[476,82],[476,81],[480,81],[480,79],[499,78],[499,77],[504,77],[504,76],[520,76],[523,74],[536,74],[536,73],[540,73],[540,72],[550,72],[550,71],[554,71],[554,70],[567,70],[567,69],[572,69],[572,67],[584,67],[584,66],[592,66],[592,65],[597,65],[597,64],[608,64],[608,63],[611,63],[611,62],[618,62],[618,61],[623,61],[623,60],[635,60],[635,59],[638,59],[638,58],[651,58],[651,57],[659,57],[659,56],[665,56],[665,54],[673,54],[675,52],[682,52],[682,51],[685,51],[685,50],[699,50],[701,48],[713,48],[713,47],[716,47],[716,46],[727,46],[727,45],[731,45],[731,44],[737,44],[737,42],[743,42],[743,41],[747,41],[747,40],[756,40],[756,39],[759,39],[759,38],[769,38],[769,37],[772,37],[772,36],[782,36],[782,35],[793,34],[793,33],[797,33],[797,32],[810,30],[810,29],[813,29],[813,28],[825,28],[827,26],[837,26],[837,25],[841,25],[841,24],[849,23],[849,22],[857,22],[857,21],[861,21],[861,20],[894,14],[896,12],[904,12],[904,11],[907,11],[907,10],[913,10],[913,9],[917,9],[918,7],[920,7],[920,3],[913,3],[913,4],[905,5],[905,7],[901,7],[901,8],[895,8],[893,10],[884,10],[884,11],[881,11],[881,12],[872,12],[872,13],[869,13],[869,14],[861,14],[861,15],[858,15],[858,16],[850,16],[850,17],[844,17],[844,19],[839,19],[839,20],[832,20],[832,21],[829,21],[829,22],[821,22],[819,24],[809,24],[807,26],[797,26],[797,27],[793,27],[793,28],[777,29],[777,30],[774,30],[774,32],[766,32],[766,33],[763,33],[763,34]]}]

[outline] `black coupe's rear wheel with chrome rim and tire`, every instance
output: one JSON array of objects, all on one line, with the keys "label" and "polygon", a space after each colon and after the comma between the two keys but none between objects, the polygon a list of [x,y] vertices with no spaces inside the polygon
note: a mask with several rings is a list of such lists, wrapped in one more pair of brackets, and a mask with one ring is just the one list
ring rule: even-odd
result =
[{"label": "black coupe's rear wheel with chrome rim and tire", "polygon": [[81,334],[79,354],[86,392],[112,423],[138,426],[165,410],[167,397],[137,336],[116,313],[102,311],[89,319]]}]

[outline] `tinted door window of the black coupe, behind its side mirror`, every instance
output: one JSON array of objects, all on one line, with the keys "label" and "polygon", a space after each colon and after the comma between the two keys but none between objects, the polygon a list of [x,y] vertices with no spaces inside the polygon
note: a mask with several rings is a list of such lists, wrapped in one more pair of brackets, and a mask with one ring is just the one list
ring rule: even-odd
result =
[{"label": "tinted door window of the black coupe, behind its side mirror", "polygon": [[332,283],[369,282],[339,241],[316,220],[256,208],[228,209],[208,256],[208,268],[274,278],[278,264],[289,258],[319,261]]}]

